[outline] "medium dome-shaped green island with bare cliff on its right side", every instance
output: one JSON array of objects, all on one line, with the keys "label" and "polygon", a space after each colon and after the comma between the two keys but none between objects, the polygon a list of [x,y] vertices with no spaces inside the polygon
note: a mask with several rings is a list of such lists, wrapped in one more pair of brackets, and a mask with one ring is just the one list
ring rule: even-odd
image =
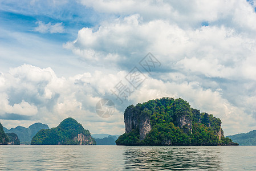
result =
[{"label": "medium dome-shaped green island with bare cliff on its right side", "polygon": [[32,138],[31,145],[96,145],[96,141],[78,121],[68,117],[56,128],[41,129]]}]

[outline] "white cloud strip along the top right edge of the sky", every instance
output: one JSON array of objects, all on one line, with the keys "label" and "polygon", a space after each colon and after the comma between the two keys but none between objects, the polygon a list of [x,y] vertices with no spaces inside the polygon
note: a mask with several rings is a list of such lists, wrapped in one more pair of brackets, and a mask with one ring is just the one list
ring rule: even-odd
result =
[{"label": "white cloud strip along the top right edge of the sky", "polygon": [[182,27],[198,27],[201,22],[218,23],[255,30],[254,7],[246,1],[92,1],[80,0],[99,13],[133,15],[140,14],[145,21],[169,20]]}]

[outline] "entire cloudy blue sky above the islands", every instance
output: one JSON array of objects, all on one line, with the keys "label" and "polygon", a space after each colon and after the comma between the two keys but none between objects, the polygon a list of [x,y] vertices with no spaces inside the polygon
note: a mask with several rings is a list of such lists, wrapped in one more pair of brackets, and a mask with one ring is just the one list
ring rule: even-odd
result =
[{"label": "entire cloudy blue sky above the islands", "polygon": [[[128,105],[181,97],[220,118],[225,136],[256,129],[255,7],[0,0],[0,122],[56,127],[73,117],[121,135]],[[96,112],[101,99],[115,105],[110,117]]]}]

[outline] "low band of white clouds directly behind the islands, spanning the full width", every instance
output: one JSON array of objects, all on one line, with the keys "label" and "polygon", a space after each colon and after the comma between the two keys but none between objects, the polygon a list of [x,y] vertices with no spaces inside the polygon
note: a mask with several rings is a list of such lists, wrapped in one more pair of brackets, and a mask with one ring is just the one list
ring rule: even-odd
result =
[{"label": "low band of white clouds directly behind the islands, spanning the full width", "polygon": [[[254,107],[249,109],[247,104],[243,108],[237,107],[222,96],[221,89],[202,88],[196,80],[186,82],[180,73],[169,73],[168,78],[172,78],[172,81],[147,75],[141,86],[131,88],[131,95],[127,100],[123,99],[122,104],[111,90],[120,80],[129,85],[125,82],[127,74],[127,71],[115,75],[95,71],[63,78],[56,76],[51,68],[42,69],[28,64],[11,68],[9,73],[0,77],[1,122],[11,125],[10,119],[16,117],[17,120],[36,120],[56,127],[56,123],[66,117],[74,117],[93,133],[121,134],[124,132],[123,112],[128,105],[165,96],[182,97],[201,112],[220,117],[226,134],[235,133],[234,130],[245,132],[248,125],[256,127],[253,119],[255,110],[251,111]],[[111,99],[116,107],[114,115],[107,119],[95,112],[97,101],[103,97]],[[246,103],[254,105],[255,96],[246,98]],[[246,109],[254,113],[248,113]],[[31,121],[26,123],[30,124]]]}]

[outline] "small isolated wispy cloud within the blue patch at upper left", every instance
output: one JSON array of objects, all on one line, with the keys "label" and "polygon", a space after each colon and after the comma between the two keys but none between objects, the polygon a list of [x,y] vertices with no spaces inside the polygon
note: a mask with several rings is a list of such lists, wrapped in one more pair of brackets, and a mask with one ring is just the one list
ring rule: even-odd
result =
[{"label": "small isolated wispy cloud within the blue patch at upper left", "polygon": [[34,28],[34,31],[38,31],[38,32],[41,32],[41,33],[47,33],[47,32],[50,32],[50,33],[62,33],[64,32],[64,26],[62,25],[62,23],[44,23],[42,21],[38,21],[36,22],[36,24],[38,25],[37,27]]}]

